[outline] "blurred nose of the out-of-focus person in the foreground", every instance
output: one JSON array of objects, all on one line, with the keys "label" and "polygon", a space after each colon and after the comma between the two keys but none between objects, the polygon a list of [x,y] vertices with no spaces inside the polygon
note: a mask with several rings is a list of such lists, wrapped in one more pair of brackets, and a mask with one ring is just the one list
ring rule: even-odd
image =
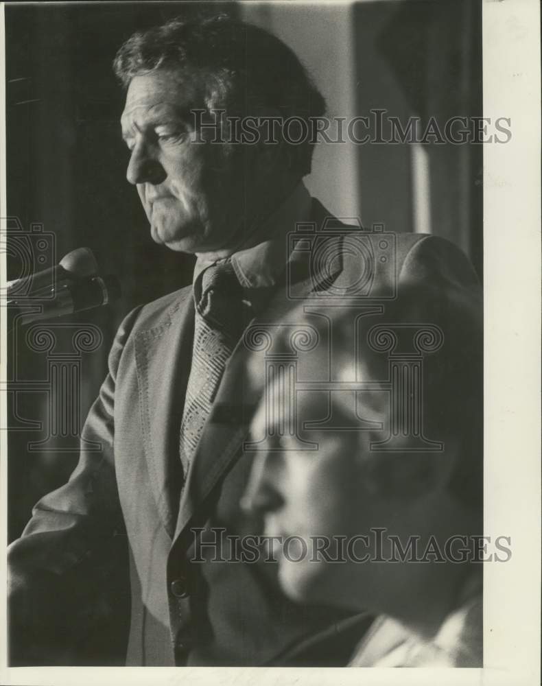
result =
[{"label": "blurred nose of the out-of-focus person in the foreground", "polygon": [[280,493],[281,458],[276,453],[256,456],[243,497],[241,510],[246,514],[260,515],[278,510],[284,503]]}]

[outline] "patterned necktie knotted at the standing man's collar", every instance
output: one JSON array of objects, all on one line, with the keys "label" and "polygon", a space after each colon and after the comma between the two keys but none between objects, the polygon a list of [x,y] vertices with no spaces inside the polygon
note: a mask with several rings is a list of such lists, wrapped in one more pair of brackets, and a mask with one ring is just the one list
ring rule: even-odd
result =
[{"label": "patterned necktie knotted at the standing man's collar", "polygon": [[192,366],[180,423],[184,478],[211,412],[228,358],[252,317],[231,262],[208,267],[194,284]]}]

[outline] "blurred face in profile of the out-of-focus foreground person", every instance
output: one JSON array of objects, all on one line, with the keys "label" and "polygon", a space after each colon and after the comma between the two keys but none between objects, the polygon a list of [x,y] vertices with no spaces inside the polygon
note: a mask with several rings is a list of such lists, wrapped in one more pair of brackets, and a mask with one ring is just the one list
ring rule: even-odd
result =
[{"label": "blurred face in profile of the out-of-focus foreground person", "polygon": [[[298,418],[321,420],[327,415],[327,399],[318,393],[298,394]],[[323,407],[325,405],[325,407]],[[323,412],[322,412],[323,409]],[[279,412],[280,415],[280,412]],[[385,419],[384,410],[363,407],[363,416],[373,421]],[[283,416],[270,422],[264,404],[252,423],[252,436],[259,440],[266,434],[277,436]],[[390,502],[372,492],[366,483],[364,451],[369,449],[368,432],[311,431],[308,438],[318,442],[318,449],[299,449],[296,439],[283,436],[277,445],[255,453],[250,482],[244,497],[248,510],[263,515],[264,533],[292,539],[288,554],[280,545],[274,547],[279,563],[279,580],[287,595],[294,600],[335,606],[355,606],[360,589],[368,592],[378,583],[372,565],[329,563],[316,552],[329,541],[327,553],[336,557],[336,536],[352,539],[369,534],[370,527],[393,530],[396,516]],[[375,435],[373,434],[373,439]],[[355,546],[355,555],[371,554],[373,541]],[[322,549],[322,548],[320,548]],[[305,553],[305,556],[303,554]],[[296,558],[303,556],[298,561]],[[288,559],[288,557],[293,558]],[[377,572],[378,576],[378,572]]]}]

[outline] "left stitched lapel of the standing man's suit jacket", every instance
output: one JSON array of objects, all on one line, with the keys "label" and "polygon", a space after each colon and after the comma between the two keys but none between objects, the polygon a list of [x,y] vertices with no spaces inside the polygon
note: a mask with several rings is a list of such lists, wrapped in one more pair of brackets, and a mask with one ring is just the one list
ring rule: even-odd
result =
[{"label": "left stitched lapel of the standing man's suit jacket", "polygon": [[135,338],[143,449],[156,506],[170,538],[182,483],[178,429],[190,371],[193,318],[192,292],[186,289],[161,322]]}]

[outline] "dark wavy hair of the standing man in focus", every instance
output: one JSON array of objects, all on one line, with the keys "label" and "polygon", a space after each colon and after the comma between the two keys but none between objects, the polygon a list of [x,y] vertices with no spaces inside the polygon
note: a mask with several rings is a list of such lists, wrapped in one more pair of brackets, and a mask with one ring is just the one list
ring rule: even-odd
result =
[{"label": "dark wavy hair of the standing man in focus", "polygon": [[[124,88],[134,76],[157,69],[196,71],[207,84],[209,110],[258,116],[270,110],[284,120],[311,119],[325,113],[325,99],[294,51],[255,25],[225,14],[172,19],[133,34],[113,62]],[[301,176],[311,171],[310,137],[290,144],[290,168]]]}]

